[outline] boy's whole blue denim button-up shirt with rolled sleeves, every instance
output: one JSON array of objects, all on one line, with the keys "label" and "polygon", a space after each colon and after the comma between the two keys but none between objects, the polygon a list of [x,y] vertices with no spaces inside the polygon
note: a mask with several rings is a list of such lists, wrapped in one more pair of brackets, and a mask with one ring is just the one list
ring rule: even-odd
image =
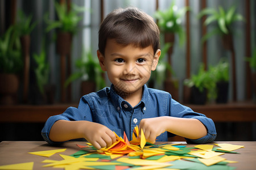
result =
[{"label": "boy's whole blue denim button-up shirt with rolled sleeves", "polygon": [[[191,108],[181,105],[168,92],[143,87],[142,100],[135,107],[131,107],[114,91],[112,86],[84,95],[80,99],[79,107],[69,107],[63,114],[51,116],[46,121],[42,130],[42,136],[48,143],[56,143],[49,139],[49,131],[57,120],[79,121],[86,120],[97,122],[107,126],[119,137],[123,137],[125,131],[129,141],[132,138],[133,129],[139,126],[143,118],[172,116],[183,118],[196,118],[207,128],[207,135],[200,139],[187,139],[192,143],[210,143],[216,138],[214,122],[204,114],[193,112]],[[168,136],[174,134],[164,132],[156,139],[168,141]]]}]

